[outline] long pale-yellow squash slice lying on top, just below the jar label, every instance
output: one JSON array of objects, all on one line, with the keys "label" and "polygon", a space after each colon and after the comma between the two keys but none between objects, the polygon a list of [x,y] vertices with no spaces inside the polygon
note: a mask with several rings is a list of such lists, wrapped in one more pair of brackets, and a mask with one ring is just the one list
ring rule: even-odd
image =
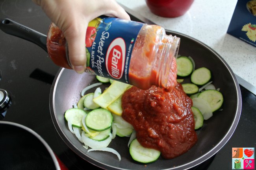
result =
[{"label": "long pale-yellow squash slice lying on top, just below the jar label", "polygon": [[113,101],[126,91],[130,84],[114,81],[99,97],[93,101],[102,108],[107,108]]}]

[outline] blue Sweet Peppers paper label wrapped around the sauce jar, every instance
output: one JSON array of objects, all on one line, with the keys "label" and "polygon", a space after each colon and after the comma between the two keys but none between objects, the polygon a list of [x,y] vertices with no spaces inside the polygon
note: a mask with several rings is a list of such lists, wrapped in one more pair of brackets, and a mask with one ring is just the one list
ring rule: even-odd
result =
[{"label": "blue Sweet Peppers paper label wrapped around the sauce jar", "polygon": [[91,21],[86,36],[89,66],[85,71],[129,84],[132,49],[143,25],[106,16]]}]

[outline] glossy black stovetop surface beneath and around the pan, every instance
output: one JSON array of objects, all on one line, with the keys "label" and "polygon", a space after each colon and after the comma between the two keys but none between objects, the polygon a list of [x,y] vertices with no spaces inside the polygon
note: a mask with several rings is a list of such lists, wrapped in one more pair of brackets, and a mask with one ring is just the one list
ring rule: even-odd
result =
[{"label": "glossy black stovetop surface beneath and around the pan", "polygon": [[[0,0],[0,10],[0,18],[47,33],[50,20],[31,0]],[[58,69],[40,47],[0,31],[0,88],[8,91],[12,98],[4,121],[16,122],[37,132],[70,170],[100,169],[70,150],[55,130],[49,97]],[[255,147],[256,96],[243,86],[240,88],[242,113],[234,134],[217,154],[193,169],[231,169],[232,147]]]}]

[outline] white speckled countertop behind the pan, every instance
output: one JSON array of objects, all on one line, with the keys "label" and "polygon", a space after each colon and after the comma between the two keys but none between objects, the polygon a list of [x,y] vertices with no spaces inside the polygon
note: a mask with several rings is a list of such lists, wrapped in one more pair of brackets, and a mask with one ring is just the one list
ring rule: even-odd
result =
[{"label": "white speckled countertop behind the pan", "polygon": [[152,22],[189,35],[214,49],[232,71],[256,87],[256,47],[227,34],[237,1],[195,0],[187,13],[177,18],[154,15],[145,0],[117,0]]}]

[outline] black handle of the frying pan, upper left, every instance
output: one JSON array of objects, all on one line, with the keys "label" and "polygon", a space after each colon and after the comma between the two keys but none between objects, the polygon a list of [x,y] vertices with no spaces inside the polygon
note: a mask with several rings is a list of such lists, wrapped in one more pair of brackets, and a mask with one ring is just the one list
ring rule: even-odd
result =
[{"label": "black handle of the frying pan, upper left", "polygon": [[37,44],[47,52],[46,35],[39,33],[29,27],[23,26],[8,18],[1,19],[0,29],[9,35],[22,38]]}]

